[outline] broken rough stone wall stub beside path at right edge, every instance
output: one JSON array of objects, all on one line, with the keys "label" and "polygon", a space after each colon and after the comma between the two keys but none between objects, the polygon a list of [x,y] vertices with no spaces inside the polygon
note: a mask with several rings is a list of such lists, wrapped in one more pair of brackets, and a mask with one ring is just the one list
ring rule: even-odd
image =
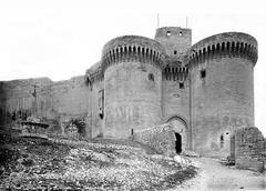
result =
[{"label": "broken rough stone wall stub beside path at right edge", "polygon": [[257,128],[250,127],[235,131],[235,160],[237,168],[264,171],[265,139]]}]

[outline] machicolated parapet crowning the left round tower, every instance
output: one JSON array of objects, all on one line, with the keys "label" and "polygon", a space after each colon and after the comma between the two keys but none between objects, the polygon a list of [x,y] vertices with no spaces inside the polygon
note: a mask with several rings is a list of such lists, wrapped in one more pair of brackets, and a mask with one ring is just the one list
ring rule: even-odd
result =
[{"label": "machicolated parapet crowning the left round tower", "polygon": [[124,36],[109,41],[102,51],[103,71],[120,62],[151,63],[163,68],[164,49],[152,39],[139,36]]}]

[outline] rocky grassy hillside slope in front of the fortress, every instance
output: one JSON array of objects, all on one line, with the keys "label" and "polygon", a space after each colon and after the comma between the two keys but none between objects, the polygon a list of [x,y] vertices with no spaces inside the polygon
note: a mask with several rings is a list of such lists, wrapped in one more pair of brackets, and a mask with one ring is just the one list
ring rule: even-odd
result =
[{"label": "rocky grassy hillside slope in front of the fortress", "polygon": [[[72,142],[1,134],[0,188],[156,190],[196,174],[131,141]],[[126,145],[125,145],[126,144]]]}]

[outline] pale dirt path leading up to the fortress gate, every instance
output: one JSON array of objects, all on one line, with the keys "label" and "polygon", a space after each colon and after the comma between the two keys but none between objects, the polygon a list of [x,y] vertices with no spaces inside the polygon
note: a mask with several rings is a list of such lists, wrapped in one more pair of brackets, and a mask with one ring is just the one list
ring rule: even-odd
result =
[{"label": "pale dirt path leading up to the fortress gate", "polygon": [[200,174],[174,190],[266,190],[264,174],[222,165],[215,159],[193,159],[201,167]]}]

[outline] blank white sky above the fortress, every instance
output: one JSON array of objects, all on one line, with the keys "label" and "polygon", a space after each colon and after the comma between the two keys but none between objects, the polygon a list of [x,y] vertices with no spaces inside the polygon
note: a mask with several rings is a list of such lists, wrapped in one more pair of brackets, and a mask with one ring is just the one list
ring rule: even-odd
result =
[{"label": "blank white sky above the fortress", "polygon": [[241,31],[258,41],[255,125],[266,137],[266,4],[264,0],[0,0],[0,81],[84,74],[109,40],[154,38],[160,27],[192,29],[193,43]]}]

